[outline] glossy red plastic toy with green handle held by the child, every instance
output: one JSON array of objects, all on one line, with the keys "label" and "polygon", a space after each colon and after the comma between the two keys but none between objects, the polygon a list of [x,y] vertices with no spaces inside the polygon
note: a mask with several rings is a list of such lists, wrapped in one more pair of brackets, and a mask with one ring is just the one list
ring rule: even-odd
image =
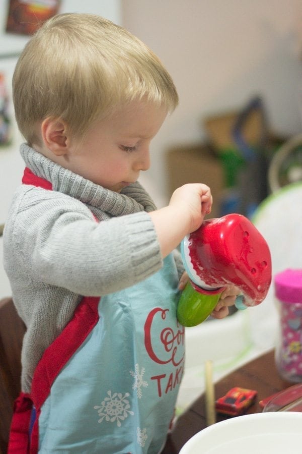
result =
[{"label": "glossy red plastic toy with green handle held by the child", "polygon": [[225,286],[242,292],[239,309],[260,304],[271,283],[268,245],[255,225],[241,214],[205,220],[181,243],[190,277],[180,298],[177,317],[184,326],[205,320]]}]

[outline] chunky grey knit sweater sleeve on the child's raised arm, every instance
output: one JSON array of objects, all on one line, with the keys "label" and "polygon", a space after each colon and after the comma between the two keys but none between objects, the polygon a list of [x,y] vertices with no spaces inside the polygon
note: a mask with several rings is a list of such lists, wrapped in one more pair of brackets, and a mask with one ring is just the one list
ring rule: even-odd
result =
[{"label": "chunky grey knit sweater sleeve on the child's raised arm", "polygon": [[29,279],[44,285],[101,296],[161,268],[160,245],[145,211],[98,223],[84,203],[51,191],[37,197],[37,191],[17,192],[6,223],[9,277],[26,270]]}]

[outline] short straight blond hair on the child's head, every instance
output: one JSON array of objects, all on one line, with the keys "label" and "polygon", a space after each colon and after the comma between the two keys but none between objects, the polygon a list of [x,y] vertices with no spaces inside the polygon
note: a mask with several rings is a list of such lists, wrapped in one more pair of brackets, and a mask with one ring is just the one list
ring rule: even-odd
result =
[{"label": "short straight blond hair on the child's head", "polygon": [[174,83],[159,58],[124,28],[90,14],[61,14],[26,44],[13,77],[18,127],[32,145],[37,124],[63,120],[83,136],[92,122],[135,99],[178,104]]}]

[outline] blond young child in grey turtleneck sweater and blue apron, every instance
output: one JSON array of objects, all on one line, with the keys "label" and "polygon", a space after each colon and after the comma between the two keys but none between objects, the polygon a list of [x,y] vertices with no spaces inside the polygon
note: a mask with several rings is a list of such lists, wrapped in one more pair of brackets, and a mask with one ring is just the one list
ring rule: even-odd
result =
[{"label": "blond young child in grey turtleneck sweater and blue apron", "polygon": [[123,28],[62,14],[25,46],[13,92],[26,168],[4,259],[27,331],[9,452],[158,453],[184,369],[174,249],[212,204],[190,184],[156,209],[137,182],[175,86]]}]

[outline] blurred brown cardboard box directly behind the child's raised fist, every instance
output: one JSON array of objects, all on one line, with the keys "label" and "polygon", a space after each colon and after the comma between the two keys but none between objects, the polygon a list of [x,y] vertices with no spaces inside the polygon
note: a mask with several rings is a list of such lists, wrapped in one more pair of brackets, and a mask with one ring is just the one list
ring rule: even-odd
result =
[{"label": "blurred brown cardboard box directly behind the child's raised fist", "polygon": [[166,153],[169,196],[186,183],[204,183],[211,188],[212,212],[219,216],[219,201],[224,189],[224,174],[219,158],[206,145],[175,147]]}]

